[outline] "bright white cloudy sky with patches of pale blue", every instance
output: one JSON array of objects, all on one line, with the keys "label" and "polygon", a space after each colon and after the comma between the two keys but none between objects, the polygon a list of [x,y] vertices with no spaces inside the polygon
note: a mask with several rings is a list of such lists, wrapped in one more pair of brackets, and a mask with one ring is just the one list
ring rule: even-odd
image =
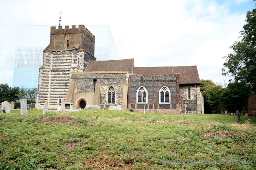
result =
[{"label": "bright white cloudy sky with patches of pale blue", "polygon": [[[135,67],[196,65],[200,79],[228,83],[221,69],[253,0],[1,0],[0,84],[12,86],[16,26],[108,25],[119,59]],[[50,39],[49,39],[50,43]]]}]

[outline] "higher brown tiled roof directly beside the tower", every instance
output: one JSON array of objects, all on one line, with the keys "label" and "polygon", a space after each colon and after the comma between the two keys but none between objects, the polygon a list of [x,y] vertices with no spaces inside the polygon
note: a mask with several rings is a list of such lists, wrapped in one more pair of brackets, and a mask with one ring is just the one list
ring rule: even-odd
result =
[{"label": "higher brown tiled roof directly beside the tower", "polygon": [[132,73],[134,59],[93,61],[88,63],[85,71],[128,71]]}]

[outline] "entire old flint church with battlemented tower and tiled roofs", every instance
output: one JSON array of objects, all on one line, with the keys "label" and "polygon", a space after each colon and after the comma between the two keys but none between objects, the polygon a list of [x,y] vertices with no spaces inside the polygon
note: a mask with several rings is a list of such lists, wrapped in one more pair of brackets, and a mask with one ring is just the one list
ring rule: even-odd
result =
[{"label": "entire old flint church with battlemented tower and tiled roofs", "polygon": [[97,61],[84,26],[51,27],[39,69],[36,107],[120,106],[137,112],[204,113],[196,66],[135,67],[134,59]]}]

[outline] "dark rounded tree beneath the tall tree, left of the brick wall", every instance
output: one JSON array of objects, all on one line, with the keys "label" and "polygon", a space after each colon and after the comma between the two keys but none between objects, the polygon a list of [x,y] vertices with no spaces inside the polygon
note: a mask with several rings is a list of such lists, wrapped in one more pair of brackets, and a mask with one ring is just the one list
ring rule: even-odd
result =
[{"label": "dark rounded tree beneath the tall tree, left of the brick wall", "polygon": [[229,112],[247,110],[250,93],[250,87],[244,85],[244,82],[230,82],[220,94],[220,102],[228,107]]}]

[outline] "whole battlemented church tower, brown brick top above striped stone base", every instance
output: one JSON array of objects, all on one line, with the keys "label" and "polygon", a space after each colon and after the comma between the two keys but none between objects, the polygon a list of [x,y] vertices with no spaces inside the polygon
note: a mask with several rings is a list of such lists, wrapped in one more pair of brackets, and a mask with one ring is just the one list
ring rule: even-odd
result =
[{"label": "whole battlemented church tower, brown brick top above striped stone base", "polygon": [[71,72],[85,71],[94,57],[95,36],[84,25],[51,27],[50,44],[44,49],[44,63],[39,69],[36,107],[57,108],[65,99],[70,85]]}]

